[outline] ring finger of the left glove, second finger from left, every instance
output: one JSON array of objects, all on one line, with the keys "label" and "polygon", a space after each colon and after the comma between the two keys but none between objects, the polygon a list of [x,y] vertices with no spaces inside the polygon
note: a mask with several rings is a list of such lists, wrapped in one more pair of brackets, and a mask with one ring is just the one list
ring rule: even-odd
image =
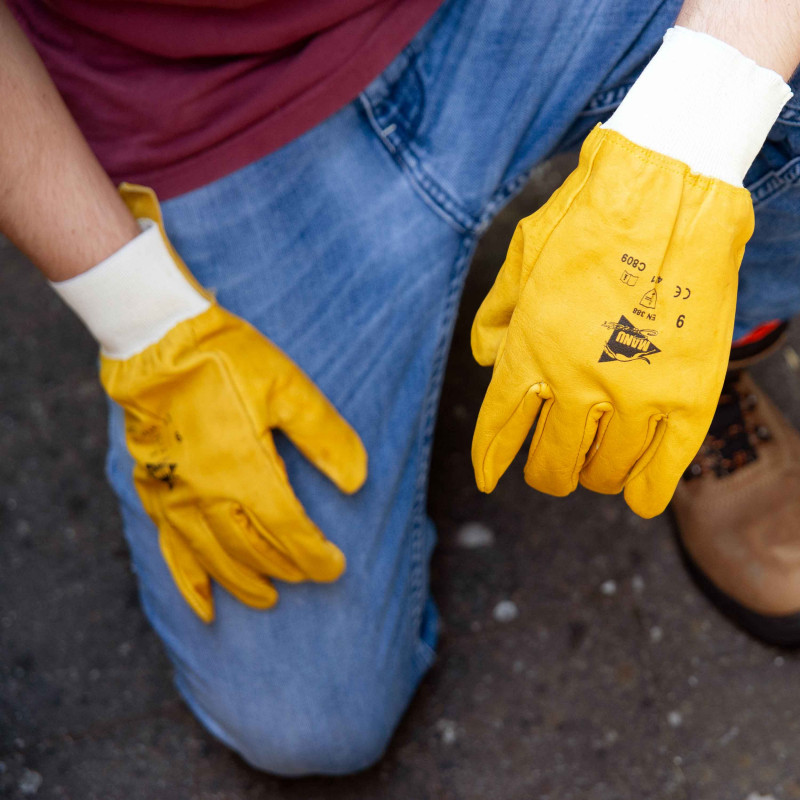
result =
[{"label": "ring finger of the left glove, second finger from left", "polygon": [[272,584],[225,551],[199,509],[190,507],[170,514],[170,521],[197,562],[220,586],[252,608],[275,605],[278,593]]}]

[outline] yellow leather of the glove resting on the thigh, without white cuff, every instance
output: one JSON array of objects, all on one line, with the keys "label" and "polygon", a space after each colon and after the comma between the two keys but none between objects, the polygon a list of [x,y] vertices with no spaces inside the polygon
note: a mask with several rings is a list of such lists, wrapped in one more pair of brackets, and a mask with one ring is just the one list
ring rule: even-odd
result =
[{"label": "yellow leather of the glove resting on the thigh, without white cuff", "polygon": [[209,578],[254,608],[276,602],[269,578],[336,580],[344,555],[293,493],[271,429],[347,493],[366,478],[358,435],[281,350],[199,287],[167,240],[155,194],[127,184],[121,193],[140,224],[156,223],[151,235],[182,274],[171,280],[185,279],[204,309],[140,352],[101,358],[102,384],[125,410],[136,489],[175,583],[210,622]]}]

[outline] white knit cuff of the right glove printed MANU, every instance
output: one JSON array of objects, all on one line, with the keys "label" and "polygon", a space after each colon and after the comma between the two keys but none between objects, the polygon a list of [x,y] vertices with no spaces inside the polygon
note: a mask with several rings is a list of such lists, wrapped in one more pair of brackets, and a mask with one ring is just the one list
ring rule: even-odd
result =
[{"label": "white knit cuff of the right glove printed MANU", "polygon": [[791,96],[777,72],[735,47],[675,27],[603,128],[741,186]]}]

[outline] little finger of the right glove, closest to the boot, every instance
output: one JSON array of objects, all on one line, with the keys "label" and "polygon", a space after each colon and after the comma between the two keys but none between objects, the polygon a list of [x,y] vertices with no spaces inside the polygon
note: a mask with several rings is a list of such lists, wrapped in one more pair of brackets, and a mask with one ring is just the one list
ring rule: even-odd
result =
[{"label": "little finger of the right glove, closest to the boot", "polygon": [[706,425],[690,425],[674,414],[659,420],[653,441],[625,484],[625,502],[631,510],[650,519],[667,507],[709,424],[710,420]]}]

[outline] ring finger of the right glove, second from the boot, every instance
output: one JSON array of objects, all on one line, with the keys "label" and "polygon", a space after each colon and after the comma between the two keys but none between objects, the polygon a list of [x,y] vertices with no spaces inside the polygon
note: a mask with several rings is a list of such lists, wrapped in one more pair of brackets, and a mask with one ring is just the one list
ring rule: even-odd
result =
[{"label": "ring finger of the right glove, second from the boot", "polygon": [[643,420],[627,416],[619,408],[604,414],[581,470],[581,485],[600,494],[619,494],[653,441],[657,422],[658,417]]}]

